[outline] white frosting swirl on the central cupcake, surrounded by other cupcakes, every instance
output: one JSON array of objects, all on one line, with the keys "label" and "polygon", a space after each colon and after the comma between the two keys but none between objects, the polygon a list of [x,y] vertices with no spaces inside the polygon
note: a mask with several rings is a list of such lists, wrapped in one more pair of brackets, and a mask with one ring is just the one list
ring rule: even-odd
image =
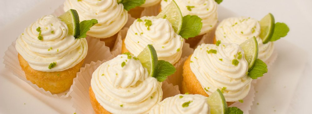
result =
[{"label": "white frosting swirl on the central cupcake, surrounded by other cupcakes", "polygon": [[[149,26],[149,30],[144,20],[151,21],[152,25]],[[144,16],[140,21],[134,21],[124,41],[126,48],[135,56],[138,56],[148,44],[152,44],[157,52],[158,60],[171,64],[180,60],[183,42],[184,39],[174,32],[167,19],[157,19],[155,16]]]}]

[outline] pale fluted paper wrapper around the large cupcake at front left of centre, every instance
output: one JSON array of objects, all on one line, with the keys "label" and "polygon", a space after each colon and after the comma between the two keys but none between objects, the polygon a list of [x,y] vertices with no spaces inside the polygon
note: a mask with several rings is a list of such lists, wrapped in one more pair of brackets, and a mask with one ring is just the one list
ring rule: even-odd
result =
[{"label": "pale fluted paper wrapper around the large cupcake at front left of centre", "polygon": [[[70,94],[72,97],[71,102],[73,103],[73,107],[76,108],[75,112],[77,114],[95,113],[90,102],[89,87],[91,86],[93,72],[106,61],[107,60],[86,64],[85,67],[81,68],[80,72],[77,73],[77,78],[74,79],[73,92]],[[163,81],[162,89],[163,99],[180,94],[178,86],[173,86],[173,84],[167,81]]]}]

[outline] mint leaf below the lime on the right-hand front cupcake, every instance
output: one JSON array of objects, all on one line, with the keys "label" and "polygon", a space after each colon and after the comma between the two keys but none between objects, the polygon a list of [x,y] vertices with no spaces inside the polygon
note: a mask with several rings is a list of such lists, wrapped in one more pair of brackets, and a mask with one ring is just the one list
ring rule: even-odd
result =
[{"label": "mint leaf below the lime on the right-hand front cupcake", "polygon": [[258,77],[263,76],[263,74],[267,72],[268,72],[268,69],[267,69],[266,63],[264,63],[260,59],[257,59],[255,62],[255,66],[248,73],[248,76],[251,77],[252,79],[257,79]]}]

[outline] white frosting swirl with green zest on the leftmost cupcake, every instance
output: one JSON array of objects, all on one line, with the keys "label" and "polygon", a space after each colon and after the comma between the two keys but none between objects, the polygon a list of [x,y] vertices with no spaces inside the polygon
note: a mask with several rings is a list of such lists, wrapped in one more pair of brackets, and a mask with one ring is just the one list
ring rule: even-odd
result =
[{"label": "white frosting swirl with green zest on the leftmost cupcake", "polygon": [[[43,40],[38,39],[38,27]],[[52,72],[64,71],[81,62],[87,55],[88,44],[86,39],[75,39],[68,34],[67,25],[57,16],[47,15],[24,30],[15,48],[32,69]],[[52,62],[56,66],[49,69]]]}]

